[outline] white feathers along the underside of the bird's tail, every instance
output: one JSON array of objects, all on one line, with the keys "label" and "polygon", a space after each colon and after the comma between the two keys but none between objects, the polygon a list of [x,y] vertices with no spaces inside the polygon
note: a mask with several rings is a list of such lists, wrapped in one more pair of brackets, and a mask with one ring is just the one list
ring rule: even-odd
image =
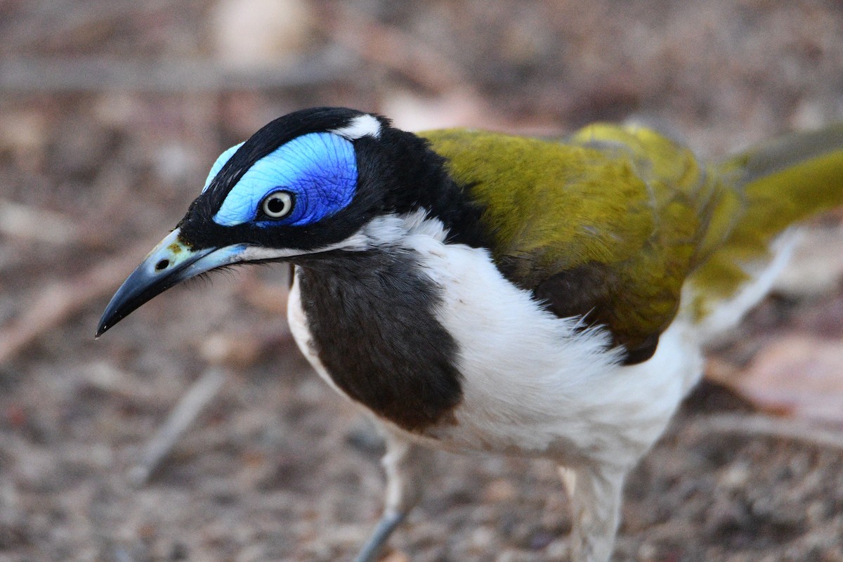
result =
[{"label": "white feathers along the underside of the bird's tail", "polygon": [[[770,292],[776,277],[784,270],[793,254],[799,239],[798,228],[790,228],[773,240],[770,246],[771,258],[760,260],[741,269],[749,276],[738,292],[721,302],[717,302],[696,324],[696,330],[701,342],[705,345],[716,345],[730,329],[734,329],[744,314],[754,308],[765,295]],[[682,291],[682,302],[694,302],[694,286],[686,284]],[[683,311],[688,314],[686,311]]]}]

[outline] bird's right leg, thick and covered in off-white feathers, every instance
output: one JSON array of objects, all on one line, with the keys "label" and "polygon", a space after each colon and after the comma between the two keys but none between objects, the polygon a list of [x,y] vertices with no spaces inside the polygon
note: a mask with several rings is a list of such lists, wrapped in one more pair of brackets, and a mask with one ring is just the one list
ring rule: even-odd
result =
[{"label": "bird's right leg, thick and covered in off-white feathers", "polygon": [[620,521],[626,468],[560,467],[571,498],[572,562],[607,562]]}]

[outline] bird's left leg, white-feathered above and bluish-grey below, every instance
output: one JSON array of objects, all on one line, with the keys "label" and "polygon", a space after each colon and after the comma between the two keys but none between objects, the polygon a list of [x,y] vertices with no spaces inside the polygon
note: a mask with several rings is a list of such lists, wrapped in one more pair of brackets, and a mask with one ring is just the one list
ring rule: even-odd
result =
[{"label": "bird's left leg, white-feathered above and bluish-grey below", "polygon": [[421,479],[432,463],[432,452],[388,431],[386,454],[382,460],[386,471],[386,505],[373,533],[355,562],[375,562],[389,535],[421,496]]}]

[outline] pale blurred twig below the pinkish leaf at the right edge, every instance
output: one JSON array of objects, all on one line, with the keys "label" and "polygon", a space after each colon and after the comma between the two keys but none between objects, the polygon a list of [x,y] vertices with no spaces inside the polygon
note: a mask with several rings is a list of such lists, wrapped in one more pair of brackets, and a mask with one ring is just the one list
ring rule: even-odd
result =
[{"label": "pale blurred twig below the pinkish leaf at the right edge", "polygon": [[843,450],[843,433],[812,425],[809,422],[774,418],[769,415],[718,414],[697,418],[693,431],[701,434],[734,433],[750,437],[766,437],[804,442],[816,447]]}]

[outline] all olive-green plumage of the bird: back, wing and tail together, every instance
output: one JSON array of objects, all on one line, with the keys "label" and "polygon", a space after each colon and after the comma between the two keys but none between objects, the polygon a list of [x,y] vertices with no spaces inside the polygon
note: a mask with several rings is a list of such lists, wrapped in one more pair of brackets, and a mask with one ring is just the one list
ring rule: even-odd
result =
[{"label": "all olive-green plumage of the bird: back, wing and tail together", "polygon": [[673,320],[737,291],[792,222],[843,203],[843,127],[699,163],[646,128],[597,124],[565,142],[421,133],[484,209],[504,275],[560,316],[604,324],[632,361]]}]

